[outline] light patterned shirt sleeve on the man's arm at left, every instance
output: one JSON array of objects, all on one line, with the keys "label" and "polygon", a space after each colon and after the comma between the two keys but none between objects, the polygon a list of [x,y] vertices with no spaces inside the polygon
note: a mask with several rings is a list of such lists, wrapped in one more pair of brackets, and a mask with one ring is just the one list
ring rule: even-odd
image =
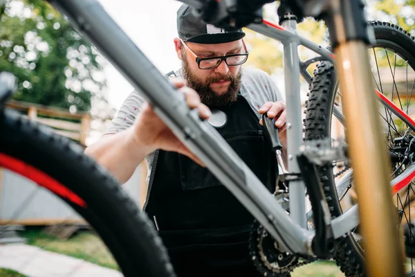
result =
[{"label": "light patterned shirt sleeve on the man's arm at left", "polygon": [[145,100],[137,91],[131,92],[122,103],[116,117],[111,120],[111,125],[105,130],[104,135],[117,134],[131,127],[144,104]]}]

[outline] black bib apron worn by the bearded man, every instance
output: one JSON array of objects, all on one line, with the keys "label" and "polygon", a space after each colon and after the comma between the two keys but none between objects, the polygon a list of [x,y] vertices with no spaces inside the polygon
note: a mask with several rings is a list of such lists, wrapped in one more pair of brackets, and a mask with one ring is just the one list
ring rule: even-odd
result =
[{"label": "black bib apron worn by the bearded man", "polygon": [[[241,95],[221,111],[228,121],[217,131],[273,192],[275,154],[257,115]],[[207,168],[159,151],[149,190],[145,211],[156,216],[179,277],[259,276],[247,242],[253,217]]]}]

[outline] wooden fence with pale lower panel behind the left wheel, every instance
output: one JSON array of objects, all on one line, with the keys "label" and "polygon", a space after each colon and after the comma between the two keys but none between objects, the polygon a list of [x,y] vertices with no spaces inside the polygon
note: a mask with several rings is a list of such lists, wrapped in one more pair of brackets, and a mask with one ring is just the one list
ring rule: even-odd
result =
[{"label": "wooden fence with pale lower panel behind the left wheel", "polygon": [[[10,100],[6,106],[85,147],[91,122],[89,114],[83,112],[73,114],[64,109],[17,100]],[[36,193],[27,204],[25,211],[17,215],[17,218],[13,218],[13,213],[19,206],[25,204],[26,197],[37,188],[32,181],[0,168],[0,225],[10,222],[24,225],[50,225],[62,220],[66,223],[84,222],[69,206],[46,190]]]}]

